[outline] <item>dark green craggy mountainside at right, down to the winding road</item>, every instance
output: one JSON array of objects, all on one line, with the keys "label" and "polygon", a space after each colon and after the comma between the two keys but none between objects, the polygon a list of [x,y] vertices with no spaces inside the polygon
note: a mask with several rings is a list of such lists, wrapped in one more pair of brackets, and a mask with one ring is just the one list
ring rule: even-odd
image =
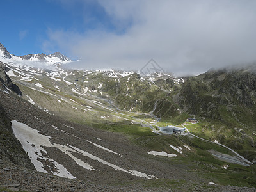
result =
[{"label": "dark green craggy mountainside at right, down to the winding road", "polygon": [[[255,65],[239,69],[211,70],[189,78],[172,99],[182,111],[205,118],[212,137],[256,161]],[[219,128],[218,128],[219,127]],[[225,128],[227,127],[227,128]]]}]

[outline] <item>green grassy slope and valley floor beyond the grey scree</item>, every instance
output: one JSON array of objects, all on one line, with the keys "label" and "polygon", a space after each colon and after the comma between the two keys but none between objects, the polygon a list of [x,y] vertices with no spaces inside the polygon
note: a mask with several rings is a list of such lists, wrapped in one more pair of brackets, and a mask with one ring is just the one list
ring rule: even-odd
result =
[{"label": "green grassy slope and valley floor beyond the grey scree", "polygon": [[[91,78],[90,76],[89,78]],[[104,77],[101,77],[104,78]],[[70,79],[68,79],[71,81]],[[102,79],[97,81],[98,84]],[[115,80],[114,80],[115,81]],[[127,81],[127,80],[125,80]],[[112,84],[112,81],[109,81]],[[36,83],[36,82],[33,82]],[[43,84],[43,83],[42,83]],[[25,93],[24,95],[28,94],[29,96],[33,95],[33,100],[39,104],[40,106],[44,106],[45,108],[49,109],[51,113],[54,113],[56,115],[60,115],[64,118],[67,118],[70,121],[79,123],[79,124],[86,124],[94,127],[95,129],[105,129],[108,131],[113,132],[120,132],[122,134],[126,134],[129,138],[131,138],[136,145],[140,145],[141,147],[145,148],[145,150],[157,150],[157,151],[165,151],[167,153],[175,153],[177,154],[177,157],[170,158],[170,157],[154,157],[157,159],[162,159],[162,161],[166,162],[168,161],[170,164],[186,164],[189,165],[189,172],[198,172],[198,174],[201,174],[202,177],[207,177],[211,180],[214,180],[218,184],[232,184],[232,185],[239,185],[239,186],[256,186],[255,182],[253,180],[256,180],[255,176],[253,175],[253,172],[255,172],[255,166],[250,166],[249,168],[239,166],[236,164],[230,164],[230,168],[228,170],[224,170],[221,166],[224,166],[227,163],[224,163],[222,161],[219,161],[218,159],[215,159],[214,157],[209,154],[206,150],[214,149],[219,152],[223,152],[226,154],[229,154],[229,152],[218,145],[214,145],[213,143],[205,143],[204,141],[198,140],[196,138],[188,138],[188,137],[177,137],[177,136],[158,136],[157,134],[154,134],[151,132],[151,129],[147,127],[141,127],[141,125],[138,124],[131,124],[131,121],[123,120],[122,118],[116,118],[116,113],[113,113],[111,111],[102,109],[97,107],[96,105],[93,105],[90,102],[86,102],[83,99],[77,97],[79,95],[76,95],[76,93],[67,92],[68,90],[65,90],[65,92],[56,92],[56,90],[51,90],[51,84],[43,84],[48,92],[56,93],[60,97],[63,97],[65,99],[72,99],[75,100],[78,104],[72,103],[72,106],[78,107],[81,105],[90,105],[93,107],[92,111],[82,111],[82,110],[76,110],[70,106],[70,102],[62,102],[59,103],[57,101],[57,98],[54,98],[52,96],[49,96],[45,93],[36,92],[35,90],[31,90],[27,88],[26,86],[21,86],[22,91]],[[79,84],[79,86],[84,87],[85,85],[83,83]],[[88,86],[88,84],[86,84]],[[93,83],[90,85],[93,86]],[[132,84],[131,84],[132,86]],[[109,86],[113,87],[112,86]],[[120,89],[126,89],[124,87],[120,87]],[[108,93],[111,93],[108,91]],[[113,92],[112,94],[115,95],[116,92]],[[128,93],[128,92],[127,92]],[[99,94],[99,92],[95,93],[96,95]],[[129,93],[131,94],[131,93]],[[154,95],[154,92],[152,92]],[[150,95],[150,94],[149,94]],[[136,95],[132,95],[133,97],[136,97]],[[162,97],[163,95],[161,95]],[[24,96],[26,97],[26,96]],[[143,96],[145,97],[145,96]],[[140,97],[141,99],[145,100],[145,98]],[[148,96],[147,103],[150,104],[150,100],[153,100],[151,96]],[[128,99],[127,102],[130,102],[131,100]],[[126,105],[125,100],[119,100],[118,102],[124,102]],[[170,103],[172,103],[172,99],[169,100]],[[164,105],[163,105],[164,106]],[[150,107],[147,107],[147,104],[145,105],[145,110],[147,111],[149,108],[152,108],[152,104],[150,104]],[[227,113],[225,113],[225,110],[223,109],[223,116]],[[127,113],[131,115],[132,113]],[[109,118],[101,118],[101,116],[109,116]],[[115,115],[115,116],[114,116]],[[120,117],[128,118],[128,116],[125,115],[117,115]],[[150,118],[145,115],[138,115],[134,113],[132,116],[136,116],[137,118],[147,118],[147,121],[150,122]],[[158,122],[157,125],[170,125],[170,124],[180,124],[188,118],[189,115],[186,113],[178,113],[173,118],[167,117],[163,118],[161,122]],[[227,115],[227,118],[229,116]],[[131,118],[130,118],[131,119]],[[152,120],[152,119],[151,119]],[[230,119],[230,122],[232,119]],[[232,135],[233,129],[227,127],[226,125],[216,124],[212,122],[201,122],[200,124],[195,125],[188,125],[188,129],[193,129],[193,133],[195,133],[198,136],[202,136],[203,138],[209,139],[209,140],[215,140],[217,138],[218,141],[221,141],[221,138],[218,137],[220,134],[218,134],[218,131],[221,131],[221,133],[228,138],[228,136]],[[220,132],[219,132],[220,133]],[[169,145],[174,145],[175,147],[182,147],[182,145],[189,145],[191,146],[192,152],[184,148],[182,152],[184,154],[179,154],[175,150],[173,150]],[[248,147],[249,148],[249,147]],[[248,150],[248,148],[246,148]],[[241,154],[243,154],[244,150],[240,151]],[[253,152],[253,150],[252,150]],[[237,182],[239,180],[239,182]],[[170,183],[173,184],[176,181],[173,180],[163,180],[164,183]],[[148,182],[145,182],[145,185],[149,185]],[[161,185],[161,182],[158,184],[153,185]]]}]

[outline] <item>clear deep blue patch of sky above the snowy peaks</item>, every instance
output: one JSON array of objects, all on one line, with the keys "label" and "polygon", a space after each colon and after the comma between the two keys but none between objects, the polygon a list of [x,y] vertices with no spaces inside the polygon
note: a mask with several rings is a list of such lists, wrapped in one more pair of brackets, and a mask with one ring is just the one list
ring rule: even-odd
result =
[{"label": "clear deep blue patch of sky above the snowy peaks", "polygon": [[52,44],[51,49],[44,50],[42,44],[49,38],[50,29],[71,30],[76,33],[100,27],[104,30],[115,30],[97,1],[71,2],[2,1],[0,42],[10,53],[18,56],[45,51],[51,53],[60,51],[60,47]]}]

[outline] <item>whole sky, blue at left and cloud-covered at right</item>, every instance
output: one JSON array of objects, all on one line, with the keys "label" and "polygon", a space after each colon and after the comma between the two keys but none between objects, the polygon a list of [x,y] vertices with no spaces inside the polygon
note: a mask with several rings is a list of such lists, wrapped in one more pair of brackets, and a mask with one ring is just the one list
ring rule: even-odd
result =
[{"label": "whole sky, blue at left and cloud-covered at right", "polygon": [[153,58],[175,75],[256,62],[255,0],[1,1],[11,54],[60,51],[70,68],[140,70]]}]

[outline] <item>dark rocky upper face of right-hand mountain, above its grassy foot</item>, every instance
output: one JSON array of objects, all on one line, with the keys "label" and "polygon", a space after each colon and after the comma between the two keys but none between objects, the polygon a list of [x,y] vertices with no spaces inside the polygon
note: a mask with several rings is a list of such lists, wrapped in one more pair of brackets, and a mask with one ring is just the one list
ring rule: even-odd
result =
[{"label": "dark rocky upper face of right-hand mountain, above its grassy foot", "polygon": [[[230,116],[235,122],[255,127],[255,119],[250,118],[255,115],[255,82],[256,74],[248,68],[209,71],[182,84],[176,101],[188,113],[223,121]],[[236,108],[245,113],[238,114]]]}]

